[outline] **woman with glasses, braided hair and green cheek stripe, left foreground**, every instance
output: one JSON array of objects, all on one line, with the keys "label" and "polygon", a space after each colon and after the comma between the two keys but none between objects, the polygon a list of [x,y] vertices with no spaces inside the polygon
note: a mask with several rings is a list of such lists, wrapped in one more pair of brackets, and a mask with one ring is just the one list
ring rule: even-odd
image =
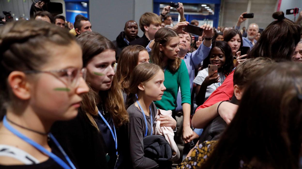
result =
[{"label": "woman with glasses, braided hair and green cheek stripe, left foreground", "polygon": [[81,47],[68,31],[42,21],[0,30],[0,168],[78,168],[50,132],[78,115],[83,78]]}]

